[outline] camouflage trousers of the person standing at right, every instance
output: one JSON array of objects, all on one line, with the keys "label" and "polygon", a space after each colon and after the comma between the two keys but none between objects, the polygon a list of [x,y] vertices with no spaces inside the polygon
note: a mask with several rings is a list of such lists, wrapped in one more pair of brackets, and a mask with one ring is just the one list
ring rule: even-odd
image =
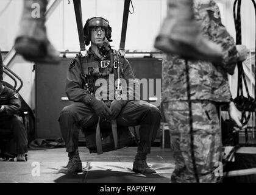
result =
[{"label": "camouflage trousers of the person standing at right", "polygon": [[[196,182],[190,146],[188,102],[166,102],[163,112],[169,124],[171,149],[175,160],[171,182]],[[218,182],[215,169],[221,161],[221,129],[216,105],[192,103],[194,157],[199,182]]]}]

